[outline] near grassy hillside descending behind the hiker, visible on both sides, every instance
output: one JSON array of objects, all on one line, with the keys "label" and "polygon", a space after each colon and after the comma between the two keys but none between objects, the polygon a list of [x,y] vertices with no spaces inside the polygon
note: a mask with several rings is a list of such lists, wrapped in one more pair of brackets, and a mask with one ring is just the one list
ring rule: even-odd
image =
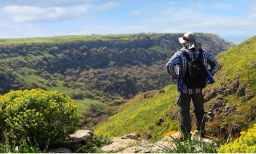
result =
[{"label": "near grassy hillside descending behind the hiker, visible on both sides", "polygon": [[[216,82],[203,91],[209,134],[239,135],[241,130],[247,130],[256,123],[255,55],[256,37],[252,37],[217,56],[220,67],[215,73]],[[138,94],[117,115],[95,126],[96,132],[122,136],[138,131],[143,138],[152,134],[153,140],[159,140],[163,134],[178,130],[176,86],[165,87],[164,91],[161,94],[152,92],[156,96],[146,99],[144,94]]]}]

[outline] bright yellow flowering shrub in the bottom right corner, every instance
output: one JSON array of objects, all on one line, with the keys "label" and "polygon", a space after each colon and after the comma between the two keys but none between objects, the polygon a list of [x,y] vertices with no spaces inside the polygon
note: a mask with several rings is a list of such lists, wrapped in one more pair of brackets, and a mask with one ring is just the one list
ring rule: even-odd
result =
[{"label": "bright yellow flowering shrub in the bottom right corner", "polygon": [[256,153],[256,124],[234,142],[223,145],[218,153]]}]

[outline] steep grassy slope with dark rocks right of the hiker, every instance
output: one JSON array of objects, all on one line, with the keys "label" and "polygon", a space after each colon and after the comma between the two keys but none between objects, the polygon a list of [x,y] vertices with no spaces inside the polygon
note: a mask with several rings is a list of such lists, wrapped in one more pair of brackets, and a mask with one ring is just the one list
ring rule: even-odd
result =
[{"label": "steep grassy slope with dark rocks right of the hiker", "polygon": [[[256,37],[217,56],[217,82],[205,88],[205,106],[219,129],[251,128],[256,109]],[[225,131],[224,131],[225,132]]]}]

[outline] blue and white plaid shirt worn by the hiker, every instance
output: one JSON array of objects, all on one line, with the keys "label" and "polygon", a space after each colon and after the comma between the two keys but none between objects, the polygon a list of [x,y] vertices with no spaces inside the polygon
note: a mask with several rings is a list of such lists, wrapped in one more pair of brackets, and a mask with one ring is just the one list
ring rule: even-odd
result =
[{"label": "blue and white plaid shirt worn by the hiker", "polygon": [[[183,48],[190,56],[190,58],[195,59],[198,57],[199,51],[192,52],[191,50],[188,50],[188,48],[184,47]],[[203,49],[203,56],[202,60],[203,64],[206,67],[206,64],[209,64],[209,68],[206,67],[206,84],[210,85],[215,83],[215,80],[213,79],[213,74],[215,73],[217,66],[219,66],[217,60],[209,52]],[[177,51],[175,55],[169,60],[167,63],[167,72],[169,73],[169,76],[171,79],[178,79],[177,82],[177,89],[181,92],[184,92],[186,94],[195,94],[198,92],[202,92],[202,88],[198,89],[190,89],[186,87],[184,83],[184,77],[183,75],[186,72],[186,68],[188,66],[188,60],[186,60],[185,56],[182,54],[181,51]],[[177,71],[175,71],[175,67]],[[182,75],[183,74],[183,75]]]}]

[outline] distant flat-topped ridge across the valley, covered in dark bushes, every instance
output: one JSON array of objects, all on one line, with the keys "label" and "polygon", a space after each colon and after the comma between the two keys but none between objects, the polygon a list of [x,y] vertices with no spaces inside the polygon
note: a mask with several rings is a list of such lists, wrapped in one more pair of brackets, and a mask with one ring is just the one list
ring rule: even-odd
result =
[{"label": "distant flat-topped ridge across the valley, covered in dark bushes", "polygon": [[[79,35],[0,39],[0,94],[58,90],[74,99],[111,102],[169,85],[165,64],[183,33]],[[196,33],[216,56],[234,46],[217,35]]]}]

